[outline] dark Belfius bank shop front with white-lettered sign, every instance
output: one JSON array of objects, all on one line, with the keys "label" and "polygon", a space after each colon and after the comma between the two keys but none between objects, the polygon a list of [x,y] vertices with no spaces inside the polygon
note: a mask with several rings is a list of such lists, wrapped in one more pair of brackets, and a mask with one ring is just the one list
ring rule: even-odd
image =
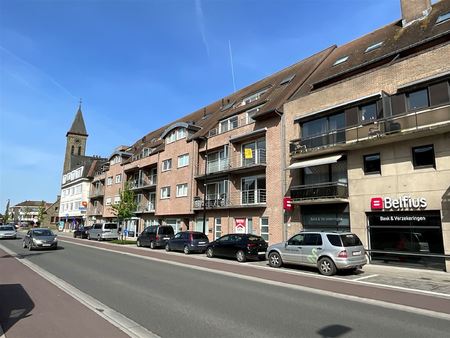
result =
[{"label": "dark Belfius bank shop front with white-lettered sign", "polygon": [[424,198],[372,198],[366,212],[373,263],[445,270],[441,213]]}]

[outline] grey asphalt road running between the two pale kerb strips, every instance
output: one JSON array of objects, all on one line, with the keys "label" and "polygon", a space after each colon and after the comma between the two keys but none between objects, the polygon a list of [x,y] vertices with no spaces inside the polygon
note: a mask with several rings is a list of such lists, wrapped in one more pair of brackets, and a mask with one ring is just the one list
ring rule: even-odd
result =
[{"label": "grey asphalt road running between the two pale kerb strips", "polygon": [[20,240],[1,243],[163,338],[448,337],[450,331],[443,319],[67,242],[31,253]]}]

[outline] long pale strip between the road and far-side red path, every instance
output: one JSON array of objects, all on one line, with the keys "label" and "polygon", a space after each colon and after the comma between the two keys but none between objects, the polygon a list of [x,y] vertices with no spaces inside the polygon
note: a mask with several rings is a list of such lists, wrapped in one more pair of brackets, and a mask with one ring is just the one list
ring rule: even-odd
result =
[{"label": "long pale strip between the road and far-side red path", "polygon": [[[333,292],[333,291],[318,290],[318,289],[314,289],[314,288],[310,288],[310,287],[306,287],[306,286],[293,285],[293,284],[288,284],[288,283],[284,283],[284,282],[271,281],[271,280],[262,279],[262,278],[258,278],[258,277],[245,276],[245,275],[241,275],[241,274],[234,273],[234,272],[215,270],[215,269],[205,268],[205,267],[201,267],[201,266],[194,266],[194,265],[189,265],[189,264],[185,264],[185,263],[167,261],[167,260],[160,259],[160,258],[155,258],[155,257],[141,256],[141,255],[134,254],[134,253],[129,253],[129,252],[121,252],[121,251],[116,251],[116,250],[112,250],[112,249],[94,247],[94,246],[91,246],[91,245],[88,245],[88,244],[81,244],[81,243],[79,244],[79,243],[73,243],[73,242],[70,242],[70,241],[67,241],[67,242],[75,244],[75,245],[80,245],[80,246],[85,246],[85,247],[89,247],[89,248],[94,248],[94,249],[97,249],[97,250],[103,250],[103,251],[118,253],[118,254],[122,254],[122,255],[126,255],[126,256],[142,258],[142,259],[146,259],[146,260],[149,260],[149,261],[166,263],[166,264],[171,264],[171,265],[175,265],[175,266],[191,268],[191,269],[194,269],[194,270],[211,272],[211,273],[224,275],[224,276],[228,276],[228,277],[235,277],[235,278],[240,278],[240,279],[246,279],[246,280],[249,280],[249,281],[254,281],[254,282],[259,282],[259,283],[264,283],[264,284],[269,284],[269,285],[287,287],[287,288],[291,288],[291,289],[294,289],[294,290],[300,290],[300,291],[304,291],[304,292],[314,293],[314,294],[317,294],[317,295],[322,295],[322,296],[325,295],[325,296],[330,296],[330,297],[334,297],[334,298],[355,301],[355,302],[364,303],[364,304],[370,303],[372,305],[377,305],[377,306],[390,308],[390,309],[394,309],[394,310],[406,311],[406,312],[415,313],[415,314],[421,314],[421,315],[429,316],[429,317],[433,317],[433,318],[440,318],[440,319],[450,320],[450,315],[446,314],[446,313],[442,313],[442,312],[436,312],[436,311],[432,311],[432,310],[425,310],[425,309],[415,308],[415,307],[407,306],[407,305],[388,303],[388,302],[385,302],[385,301],[375,300],[375,299],[370,299],[370,298],[364,298],[364,297],[358,297],[358,296],[352,296],[352,295],[344,295],[344,294],[340,294],[340,293]],[[342,280],[342,281],[349,282],[347,280]],[[364,282],[357,282],[357,283],[364,283]],[[373,283],[367,283],[367,284],[369,284],[370,286],[375,285]],[[410,289],[406,289],[406,290],[410,290]],[[419,291],[422,292],[422,290],[419,290]],[[441,295],[441,294],[439,294],[439,295]],[[446,296],[446,297],[450,298],[449,295],[443,295],[443,296]]]}]

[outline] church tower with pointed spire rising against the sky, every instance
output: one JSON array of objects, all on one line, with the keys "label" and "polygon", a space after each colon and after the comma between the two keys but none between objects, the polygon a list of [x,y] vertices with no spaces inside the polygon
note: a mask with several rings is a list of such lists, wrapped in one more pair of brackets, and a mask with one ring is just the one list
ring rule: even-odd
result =
[{"label": "church tower with pointed spire rising against the sky", "polygon": [[72,127],[66,134],[66,154],[64,156],[63,173],[70,170],[72,155],[84,156],[86,153],[87,131],[84,125],[83,113],[81,112],[81,103],[73,120]]}]

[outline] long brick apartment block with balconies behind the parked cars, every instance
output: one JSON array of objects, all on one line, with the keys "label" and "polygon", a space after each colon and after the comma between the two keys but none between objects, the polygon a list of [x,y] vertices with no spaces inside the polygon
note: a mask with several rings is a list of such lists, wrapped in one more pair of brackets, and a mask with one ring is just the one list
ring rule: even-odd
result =
[{"label": "long brick apartment block with balconies behind the parked cars", "polygon": [[[108,205],[127,182],[132,235],[169,224],[275,243],[351,230],[374,260],[449,271],[450,1],[401,3],[398,22],[116,149],[93,176],[90,222],[113,219]],[[373,208],[380,198],[396,207]],[[405,235],[416,255],[387,239]]]}]

